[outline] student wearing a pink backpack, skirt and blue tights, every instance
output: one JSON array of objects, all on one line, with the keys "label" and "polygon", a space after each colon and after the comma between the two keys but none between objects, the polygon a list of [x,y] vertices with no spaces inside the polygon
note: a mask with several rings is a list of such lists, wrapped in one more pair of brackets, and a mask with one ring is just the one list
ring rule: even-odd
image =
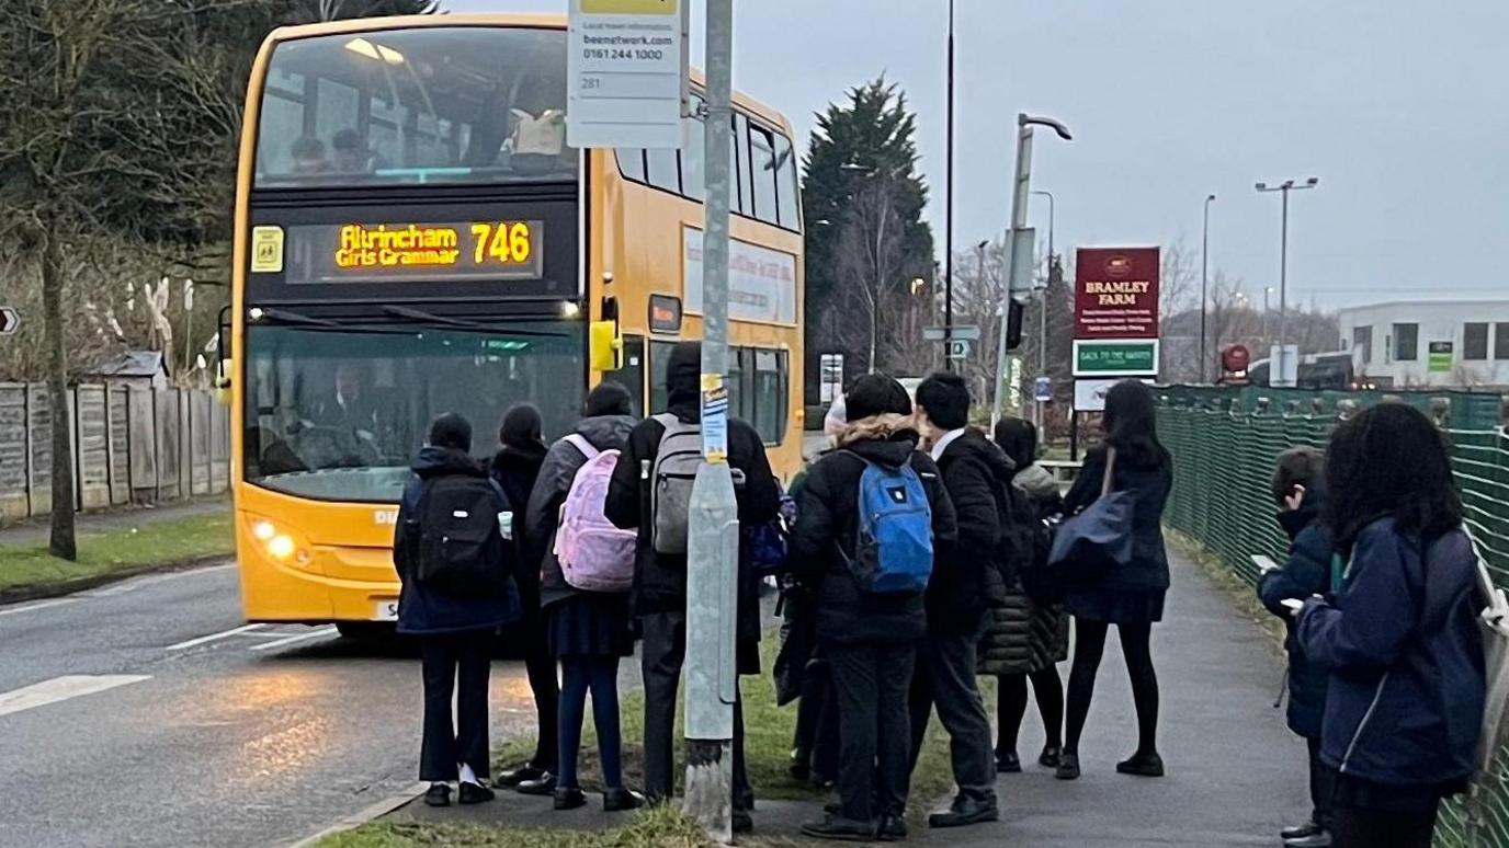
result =
[{"label": "student wearing a pink backpack, skirt and blue tights", "polygon": [[545,454],[525,513],[528,548],[543,552],[540,607],[546,641],[561,665],[557,810],[587,803],[576,777],[576,754],[589,693],[602,757],[602,807],[632,810],[644,803],[623,786],[619,733],[619,659],[634,653],[629,588],[635,534],[602,516],[608,478],[634,424],[628,389],[611,382],[592,389],[576,432]]}]

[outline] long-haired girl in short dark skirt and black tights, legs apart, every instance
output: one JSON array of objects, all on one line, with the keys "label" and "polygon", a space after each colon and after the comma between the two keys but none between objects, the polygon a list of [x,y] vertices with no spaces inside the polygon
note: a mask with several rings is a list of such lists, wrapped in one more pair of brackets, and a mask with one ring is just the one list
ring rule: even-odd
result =
[{"label": "long-haired girl in short dark skirt and black tights, legs apart", "polygon": [[1064,498],[1065,515],[1076,515],[1100,498],[1111,451],[1112,490],[1132,492],[1132,561],[1093,585],[1070,588],[1064,610],[1074,616],[1074,664],[1068,674],[1068,738],[1056,777],[1079,777],[1079,738],[1089,715],[1096,671],[1106,649],[1106,631],[1117,626],[1121,653],[1132,677],[1138,747],[1117,764],[1121,774],[1162,777],[1157,754],[1157,673],[1153,670],[1153,623],[1163,617],[1168,591],[1168,552],[1163,549],[1163,505],[1174,484],[1174,460],[1157,441],[1153,391],[1138,380],[1123,380],[1106,394],[1106,441],[1085,457],[1074,487]]}]

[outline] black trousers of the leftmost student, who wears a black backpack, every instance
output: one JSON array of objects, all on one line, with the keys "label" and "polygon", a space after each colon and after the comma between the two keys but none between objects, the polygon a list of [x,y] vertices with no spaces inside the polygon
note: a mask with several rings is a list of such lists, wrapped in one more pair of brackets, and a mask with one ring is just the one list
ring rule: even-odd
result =
[{"label": "black trousers of the leftmost student, who wears a black backpack", "polygon": [[[424,668],[424,742],[420,780],[444,782],[466,764],[478,779],[487,764],[487,676],[492,671],[492,631],[420,637]],[[451,697],[456,723],[451,723]]]}]

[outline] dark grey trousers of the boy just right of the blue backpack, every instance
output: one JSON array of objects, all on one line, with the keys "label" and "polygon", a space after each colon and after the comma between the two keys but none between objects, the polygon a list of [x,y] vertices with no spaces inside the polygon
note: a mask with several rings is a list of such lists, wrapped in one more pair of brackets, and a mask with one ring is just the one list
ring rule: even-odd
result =
[{"label": "dark grey trousers of the boy just right of the blue backpack", "polygon": [[996,762],[990,745],[990,715],[975,682],[976,635],[928,634],[911,676],[911,756],[916,768],[933,708],[948,730],[954,783],[963,795],[996,797]]}]

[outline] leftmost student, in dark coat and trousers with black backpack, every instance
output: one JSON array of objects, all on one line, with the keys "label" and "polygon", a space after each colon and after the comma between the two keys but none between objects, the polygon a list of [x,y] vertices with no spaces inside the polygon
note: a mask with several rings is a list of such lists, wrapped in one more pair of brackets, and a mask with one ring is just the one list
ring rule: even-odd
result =
[{"label": "leftmost student, in dark coat and trousers with black backpack", "polygon": [[420,780],[430,782],[424,803],[432,807],[451,803],[450,782],[460,782],[463,804],[493,798],[486,786],[489,649],[493,632],[519,614],[512,546],[501,531],[509,501],[471,457],[471,436],[456,413],[430,424],[392,540],[403,584],[398,632],[420,637],[424,664]]}]

